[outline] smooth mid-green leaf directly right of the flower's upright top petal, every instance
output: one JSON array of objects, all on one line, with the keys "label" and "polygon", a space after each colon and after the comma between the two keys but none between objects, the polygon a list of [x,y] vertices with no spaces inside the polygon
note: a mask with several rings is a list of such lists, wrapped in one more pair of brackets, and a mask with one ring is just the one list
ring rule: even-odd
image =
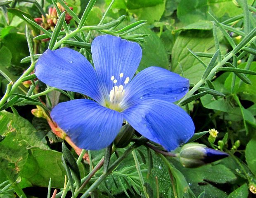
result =
[{"label": "smooth mid-green leaf directly right of the flower's upright top petal", "polygon": [[150,66],[168,69],[168,55],[159,37],[145,27],[135,30],[134,33],[149,34],[149,36],[145,37],[146,42],[142,44],[142,60],[138,70],[141,71]]}]

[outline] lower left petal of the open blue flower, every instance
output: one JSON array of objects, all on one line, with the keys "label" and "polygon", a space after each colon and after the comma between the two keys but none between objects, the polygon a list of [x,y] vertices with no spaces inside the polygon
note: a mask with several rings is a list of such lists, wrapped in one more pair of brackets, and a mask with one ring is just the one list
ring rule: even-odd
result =
[{"label": "lower left petal of the open blue flower", "polygon": [[52,119],[81,149],[100,150],[114,141],[123,115],[87,99],[59,103]]}]

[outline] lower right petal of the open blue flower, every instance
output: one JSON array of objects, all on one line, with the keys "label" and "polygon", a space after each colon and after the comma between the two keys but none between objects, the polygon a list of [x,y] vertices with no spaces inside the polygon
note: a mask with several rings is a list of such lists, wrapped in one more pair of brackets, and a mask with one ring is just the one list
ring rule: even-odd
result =
[{"label": "lower right petal of the open blue flower", "polygon": [[167,151],[177,148],[194,134],[194,123],[180,107],[163,100],[144,100],[121,112],[141,135]]}]

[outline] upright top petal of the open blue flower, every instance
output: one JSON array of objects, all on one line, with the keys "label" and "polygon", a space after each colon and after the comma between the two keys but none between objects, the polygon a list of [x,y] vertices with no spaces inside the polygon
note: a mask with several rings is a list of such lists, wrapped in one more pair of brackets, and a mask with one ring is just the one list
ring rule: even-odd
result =
[{"label": "upright top petal of the open blue flower", "polygon": [[[142,50],[135,42],[111,35],[96,37],[91,49],[100,87],[105,98],[109,100],[109,92],[114,86],[111,77],[115,77],[117,86],[123,84],[126,77],[132,79],[140,64]],[[123,73],[122,78],[120,73]]]}]

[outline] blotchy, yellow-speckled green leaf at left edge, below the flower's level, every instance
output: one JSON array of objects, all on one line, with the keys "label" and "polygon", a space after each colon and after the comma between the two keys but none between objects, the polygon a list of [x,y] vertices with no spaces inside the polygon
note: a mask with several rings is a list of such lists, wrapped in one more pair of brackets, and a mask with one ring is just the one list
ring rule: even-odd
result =
[{"label": "blotchy, yellow-speckled green leaf at left edge, below the flower's level", "polygon": [[19,141],[17,134],[17,131],[10,130],[0,142],[0,183],[6,179],[14,182],[28,158],[26,141]]}]

